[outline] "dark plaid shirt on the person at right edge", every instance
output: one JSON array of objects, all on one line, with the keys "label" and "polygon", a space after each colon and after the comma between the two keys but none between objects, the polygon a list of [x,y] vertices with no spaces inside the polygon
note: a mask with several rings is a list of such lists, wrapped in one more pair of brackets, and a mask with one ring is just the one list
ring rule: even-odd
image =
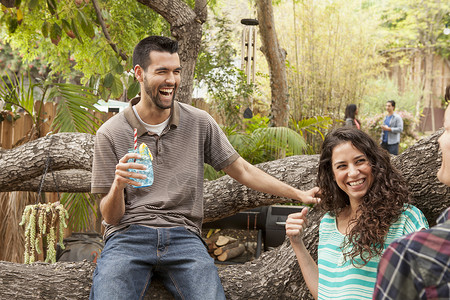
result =
[{"label": "dark plaid shirt on the person at right edge", "polygon": [[389,245],[373,299],[450,299],[450,207],[436,226]]}]

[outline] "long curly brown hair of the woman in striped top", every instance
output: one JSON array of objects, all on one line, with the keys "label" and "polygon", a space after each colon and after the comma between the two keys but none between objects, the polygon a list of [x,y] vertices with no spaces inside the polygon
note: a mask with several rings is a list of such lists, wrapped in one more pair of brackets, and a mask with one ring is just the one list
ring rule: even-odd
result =
[{"label": "long curly brown hair of the woman in striped top", "polygon": [[[341,248],[345,260],[350,259],[355,266],[364,266],[372,257],[382,254],[389,227],[404,210],[403,205],[410,202],[411,195],[405,180],[392,166],[387,151],[363,131],[342,127],[330,132],[322,144],[317,185],[321,190],[320,205],[325,211],[338,216],[350,205],[348,195],[334,180],[331,165],[333,149],[346,142],[364,153],[372,167],[373,184],[363,197],[358,208],[359,217],[351,221],[355,226]],[[358,256],[362,264],[357,263]]]}]

